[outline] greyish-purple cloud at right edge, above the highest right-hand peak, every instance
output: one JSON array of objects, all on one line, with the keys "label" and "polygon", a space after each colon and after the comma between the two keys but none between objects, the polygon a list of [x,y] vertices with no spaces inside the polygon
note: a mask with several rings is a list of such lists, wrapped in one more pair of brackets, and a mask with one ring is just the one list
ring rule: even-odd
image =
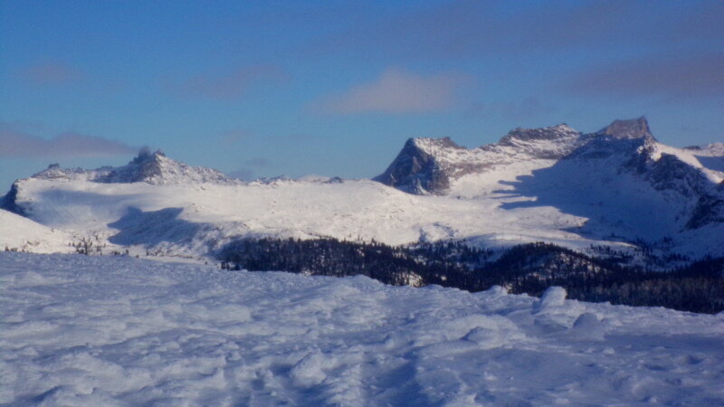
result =
[{"label": "greyish-purple cloud at right edge, above the highest right-hand peak", "polygon": [[724,95],[724,53],[690,58],[641,58],[581,71],[567,90],[620,97],[715,97]]}]

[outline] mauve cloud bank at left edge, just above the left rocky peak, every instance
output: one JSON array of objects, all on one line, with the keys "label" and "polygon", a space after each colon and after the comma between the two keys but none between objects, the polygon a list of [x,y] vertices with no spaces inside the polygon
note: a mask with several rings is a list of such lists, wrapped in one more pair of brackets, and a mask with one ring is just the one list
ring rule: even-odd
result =
[{"label": "mauve cloud bank at left edge, just above the left rocky peak", "polygon": [[133,154],[130,147],[108,138],[66,132],[50,139],[33,136],[7,125],[0,125],[2,157],[83,157]]}]

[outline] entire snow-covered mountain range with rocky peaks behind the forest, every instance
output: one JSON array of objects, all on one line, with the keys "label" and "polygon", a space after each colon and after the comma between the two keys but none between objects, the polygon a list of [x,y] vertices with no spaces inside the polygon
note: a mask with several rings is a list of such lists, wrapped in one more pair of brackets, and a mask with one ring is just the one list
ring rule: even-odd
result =
[{"label": "entire snow-covered mountain range with rocky peaks behind the forest", "polygon": [[116,168],[51,166],[15,182],[2,207],[73,240],[187,256],[275,236],[645,245],[698,258],[724,255],[723,181],[724,147],[668,147],[637,118],[591,134],[517,128],[470,149],[413,138],[375,180],[243,183],[144,151]]}]

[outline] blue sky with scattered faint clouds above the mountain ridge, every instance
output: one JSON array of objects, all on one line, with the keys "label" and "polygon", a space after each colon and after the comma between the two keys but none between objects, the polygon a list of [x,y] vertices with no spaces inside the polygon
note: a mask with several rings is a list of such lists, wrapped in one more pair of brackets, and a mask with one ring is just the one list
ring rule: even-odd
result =
[{"label": "blue sky with scattered faint clouds above the mountain ridge", "polygon": [[0,1],[0,183],[138,147],[244,177],[383,172],[408,137],[645,115],[724,141],[724,2]]}]

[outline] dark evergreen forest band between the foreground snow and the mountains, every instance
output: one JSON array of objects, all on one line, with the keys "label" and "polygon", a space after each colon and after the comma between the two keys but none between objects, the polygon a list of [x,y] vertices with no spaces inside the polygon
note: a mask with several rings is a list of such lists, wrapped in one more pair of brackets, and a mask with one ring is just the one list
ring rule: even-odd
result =
[{"label": "dark evergreen forest band between the foreground snow and the mountains", "polygon": [[625,266],[616,256],[586,256],[548,243],[502,253],[462,241],[388,246],[376,241],[244,239],[219,253],[232,270],[284,270],[322,276],[362,274],[386,284],[437,284],[469,291],[505,287],[539,296],[550,286],[568,298],[691,312],[724,310],[724,258],[669,271]]}]

